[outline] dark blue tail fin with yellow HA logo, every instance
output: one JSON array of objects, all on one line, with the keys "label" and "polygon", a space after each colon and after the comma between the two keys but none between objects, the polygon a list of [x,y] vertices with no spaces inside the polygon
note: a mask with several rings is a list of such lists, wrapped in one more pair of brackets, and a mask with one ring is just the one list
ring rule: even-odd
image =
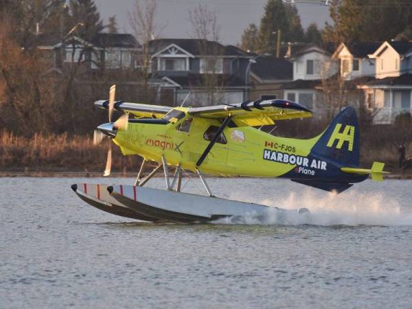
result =
[{"label": "dark blue tail fin with yellow HA logo", "polygon": [[345,108],[333,119],[312,152],[343,166],[359,165],[359,124],[354,108]]}]

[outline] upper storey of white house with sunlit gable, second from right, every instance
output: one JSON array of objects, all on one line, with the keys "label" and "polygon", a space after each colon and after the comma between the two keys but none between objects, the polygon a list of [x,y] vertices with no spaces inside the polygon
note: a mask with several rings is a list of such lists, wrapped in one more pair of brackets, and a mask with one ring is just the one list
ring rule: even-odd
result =
[{"label": "upper storey of white house with sunlit gable, second from right", "polygon": [[339,60],[339,73],[345,80],[375,76],[375,58],[369,58],[382,43],[341,43],[332,58]]}]

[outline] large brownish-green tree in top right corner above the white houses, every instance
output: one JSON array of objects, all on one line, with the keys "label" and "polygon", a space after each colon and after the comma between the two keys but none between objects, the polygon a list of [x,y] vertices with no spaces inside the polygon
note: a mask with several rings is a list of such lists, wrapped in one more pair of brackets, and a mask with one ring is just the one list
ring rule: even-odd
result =
[{"label": "large brownish-green tree in top right corner above the white houses", "polygon": [[323,41],[353,43],[389,41],[411,23],[410,0],[333,0]]}]

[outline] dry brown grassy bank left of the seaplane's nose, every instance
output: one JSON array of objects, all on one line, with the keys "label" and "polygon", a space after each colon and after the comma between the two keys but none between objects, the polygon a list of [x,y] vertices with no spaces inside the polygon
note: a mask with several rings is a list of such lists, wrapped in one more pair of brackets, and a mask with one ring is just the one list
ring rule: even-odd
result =
[{"label": "dry brown grassy bank left of the seaplane's nose", "polygon": [[[108,139],[98,146],[88,136],[34,135],[25,138],[0,133],[2,172],[101,172],[106,163]],[[122,156],[113,146],[113,170],[136,171],[140,159]]]}]

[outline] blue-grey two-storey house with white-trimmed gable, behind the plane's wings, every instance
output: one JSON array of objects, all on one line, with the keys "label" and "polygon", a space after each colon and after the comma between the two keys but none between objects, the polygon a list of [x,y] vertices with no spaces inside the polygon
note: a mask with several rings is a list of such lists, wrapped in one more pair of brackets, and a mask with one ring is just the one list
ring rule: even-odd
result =
[{"label": "blue-grey two-storey house with white-trimmed gable, behind the plane's wings", "polygon": [[[150,86],[169,93],[174,105],[233,104],[247,98],[253,54],[231,45],[192,38],[150,41]],[[190,95],[188,95],[190,93]]]}]

